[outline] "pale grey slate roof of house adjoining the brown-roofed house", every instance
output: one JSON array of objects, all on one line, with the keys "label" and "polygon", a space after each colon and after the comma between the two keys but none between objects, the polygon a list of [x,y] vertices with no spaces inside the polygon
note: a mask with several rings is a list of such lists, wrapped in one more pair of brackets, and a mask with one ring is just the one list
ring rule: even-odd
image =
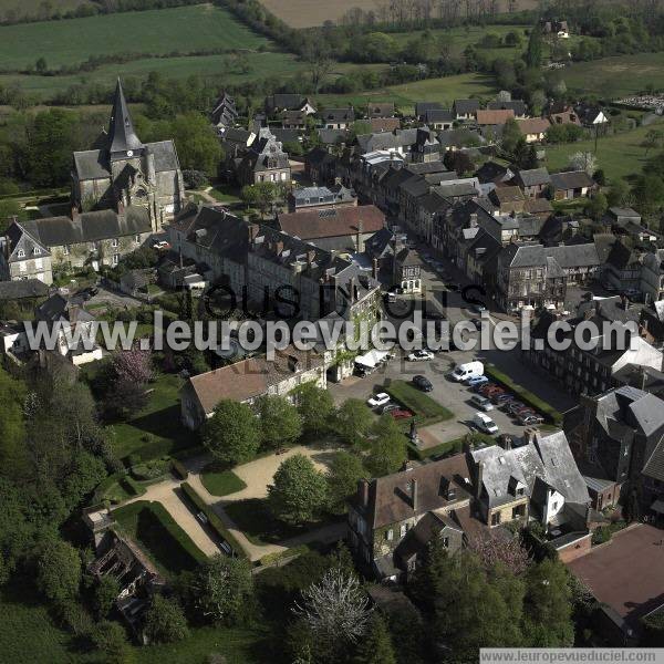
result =
[{"label": "pale grey slate roof of house adjoining the brown-roofed house", "polygon": [[526,445],[504,449],[498,445],[473,450],[476,464],[484,463],[483,484],[489,507],[510,502],[515,480],[532,496],[539,480],[561,494],[567,502],[590,502],[588,487],[563,432],[538,432]]}]

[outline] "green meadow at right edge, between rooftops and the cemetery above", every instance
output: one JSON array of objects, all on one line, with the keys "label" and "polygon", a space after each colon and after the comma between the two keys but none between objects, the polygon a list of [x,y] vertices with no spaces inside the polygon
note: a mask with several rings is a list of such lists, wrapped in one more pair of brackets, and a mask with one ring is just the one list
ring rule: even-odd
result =
[{"label": "green meadow at right edge, between rooftops and the cemetery above", "polygon": [[[624,178],[639,174],[645,164],[645,148],[641,146],[646,132],[652,128],[664,128],[664,122],[637,127],[632,132],[615,134],[614,136],[600,137],[598,141],[598,166],[602,168],[609,179]],[[594,152],[594,141],[580,141],[564,145],[546,146],[546,165],[549,170],[564,168],[570,155],[577,152]],[[653,155],[653,151],[649,156]]]}]

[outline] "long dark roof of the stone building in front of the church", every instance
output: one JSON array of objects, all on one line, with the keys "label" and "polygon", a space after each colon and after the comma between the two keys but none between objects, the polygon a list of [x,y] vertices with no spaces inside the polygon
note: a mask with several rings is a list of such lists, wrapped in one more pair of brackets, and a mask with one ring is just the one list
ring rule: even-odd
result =
[{"label": "long dark roof of the stone building in front of the church", "polygon": [[24,228],[45,247],[62,247],[81,242],[96,242],[152,231],[146,208],[126,208],[124,215],[115,210],[93,210],[70,217],[49,217],[23,222]]}]

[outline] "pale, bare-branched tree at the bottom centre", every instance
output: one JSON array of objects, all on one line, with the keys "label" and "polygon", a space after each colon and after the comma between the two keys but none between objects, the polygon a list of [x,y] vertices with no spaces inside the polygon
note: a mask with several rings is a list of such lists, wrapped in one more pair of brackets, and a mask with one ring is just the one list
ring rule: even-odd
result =
[{"label": "pale, bare-branched tree at the bottom centre", "polygon": [[365,634],[372,611],[357,578],[332,568],[319,583],[302,592],[293,613],[309,626],[329,658],[340,661],[346,649]]}]

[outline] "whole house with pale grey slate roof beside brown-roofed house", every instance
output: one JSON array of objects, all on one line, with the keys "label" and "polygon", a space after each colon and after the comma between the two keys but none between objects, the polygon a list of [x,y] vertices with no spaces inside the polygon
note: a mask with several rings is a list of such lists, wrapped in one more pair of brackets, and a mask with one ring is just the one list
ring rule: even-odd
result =
[{"label": "whole house with pale grey slate roof beside brown-roofed house", "polygon": [[[588,533],[590,496],[563,432],[527,429],[515,445],[470,452],[480,519],[490,527],[513,521],[539,521],[554,537]],[[554,540],[553,540],[554,541]]]}]

